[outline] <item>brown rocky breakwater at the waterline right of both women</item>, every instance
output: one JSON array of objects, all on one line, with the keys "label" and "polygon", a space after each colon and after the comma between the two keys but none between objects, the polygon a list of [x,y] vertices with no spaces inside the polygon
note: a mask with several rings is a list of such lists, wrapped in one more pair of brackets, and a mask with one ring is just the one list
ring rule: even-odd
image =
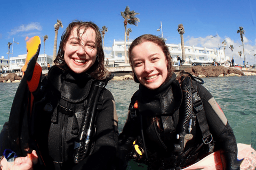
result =
[{"label": "brown rocky breakwater at the waterline right of both women", "polygon": [[[199,78],[204,77],[229,77],[229,76],[238,76],[244,75],[242,71],[234,69],[233,67],[223,67],[223,66],[193,66],[184,69],[184,71],[191,73]],[[251,75],[256,75],[252,73]]]}]

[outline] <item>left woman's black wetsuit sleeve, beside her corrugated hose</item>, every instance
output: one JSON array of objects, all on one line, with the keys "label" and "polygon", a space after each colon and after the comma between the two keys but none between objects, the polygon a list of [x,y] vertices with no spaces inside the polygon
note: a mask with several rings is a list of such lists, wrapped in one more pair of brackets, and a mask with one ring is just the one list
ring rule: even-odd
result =
[{"label": "left woman's black wetsuit sleeve, beside her corrugated hose", "polygon": [[103,92],[102,101],[102,110],[98,113],[96,121],[97,132],[93,137],[93,152],[73,169],[111,169],[118,138],[116,106],[109,90]]}]

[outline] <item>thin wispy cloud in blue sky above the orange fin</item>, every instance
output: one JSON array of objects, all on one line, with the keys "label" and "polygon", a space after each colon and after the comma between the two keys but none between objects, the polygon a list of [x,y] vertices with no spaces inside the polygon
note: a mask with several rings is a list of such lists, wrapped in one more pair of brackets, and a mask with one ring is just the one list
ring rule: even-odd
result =
[{"label": "thin wispy cloud in blue sky above the orange fin", "polygon": [[42,26],[40,25],[39,22],[31,22],[30,24],[27,25],[20,25],[19,27],[12,29],[9,33],[9,35],[15,35],[18,32],[26,32],[26,31],[30,31],[30,30],[38,30],[41,31],[42,30]]}]

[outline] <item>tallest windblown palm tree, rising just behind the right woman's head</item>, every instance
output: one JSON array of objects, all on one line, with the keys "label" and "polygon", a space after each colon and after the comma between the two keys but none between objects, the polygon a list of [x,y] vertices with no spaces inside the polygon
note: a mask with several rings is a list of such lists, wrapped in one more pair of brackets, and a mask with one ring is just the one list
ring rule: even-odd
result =
[{"label": "tallest windblown palm tree, rising just behind the right woman's head", "polygon": [[139,14],[140,13],[137,13],[135,11],[130,11],[129,6],[126,6],[124,12],[121,11],[121,15],[124,18],[124,62],[125,63],[128,63],[127,54],[126,54],[126,26],[127,26],[127,23],[137,26],[138,22],[140,22],[140,19],[136,18],[135,15],[139,15]]}]

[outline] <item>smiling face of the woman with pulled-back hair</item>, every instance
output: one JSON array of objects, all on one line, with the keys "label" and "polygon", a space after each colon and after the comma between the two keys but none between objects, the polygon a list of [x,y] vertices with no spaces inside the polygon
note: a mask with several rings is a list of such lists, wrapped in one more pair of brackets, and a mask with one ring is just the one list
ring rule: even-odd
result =
[{"label": "smiling face of the woman with pulled-back hair", "polygon": [[148,89],[160,87],[167,78],[167,61],[161,47],[150,41],[135,46],[131,51],[134,74]]}]

